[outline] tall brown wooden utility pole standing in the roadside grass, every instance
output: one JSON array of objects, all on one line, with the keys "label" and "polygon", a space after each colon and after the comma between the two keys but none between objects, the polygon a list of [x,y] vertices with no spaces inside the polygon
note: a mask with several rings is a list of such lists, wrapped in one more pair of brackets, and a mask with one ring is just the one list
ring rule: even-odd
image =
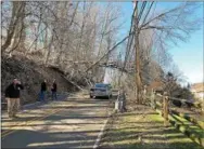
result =
[{"label": "tall brown wooden utility pole standing in the roadside grass", "polygon": [[138,21],[138,1],[133,1],[135,12],[135,63],[136,63],[136,100],[141,104],[141,77],[140,77],[140,49],[139,49],[139,21]]}]

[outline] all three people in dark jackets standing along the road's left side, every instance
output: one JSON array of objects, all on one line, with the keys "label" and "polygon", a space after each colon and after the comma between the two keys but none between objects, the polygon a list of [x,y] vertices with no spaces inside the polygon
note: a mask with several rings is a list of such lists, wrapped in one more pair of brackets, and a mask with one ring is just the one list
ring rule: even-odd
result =
[{"label": "all three people in dark jackets standing along the road's left side", "polygon": [[[46,93],[47,93],[47,80],[44,80],[41,83],[41,90],[39,93],[39,100],[44,101],[46,100]],[[24,86],[22,85],[21,81],[17,79],[14,79],[13,82],[5,89],[5,99],[8,101],[8,113],[9,118],[17,118],[16,113],[20,110],[21,107],[21,100],[20,100],[20,91],[24,90]],[[52,100],[56,100],[56,81],[53,80],[51,92],[52,92]]]}]

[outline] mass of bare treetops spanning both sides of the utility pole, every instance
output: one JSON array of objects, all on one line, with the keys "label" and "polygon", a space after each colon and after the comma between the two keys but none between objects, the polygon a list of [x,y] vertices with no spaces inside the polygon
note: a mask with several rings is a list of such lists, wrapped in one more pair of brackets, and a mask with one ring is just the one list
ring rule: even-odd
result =
[{"label": "mass of bare treetops spanning both sides of the utility pole", "polygon": [[[120,29],[126,21],[125,18],[122,21],[122,11],[116,3],[109,2],[103,5],[97,2],[71,1],[30,1],[25,5],[24,2],[11,3],[13,8],[9,5],[8,10],[2,11],[1,37],[4,39],[2,52],[8,51],[10,45],[12,45],[9,50],[11,53],[20,52],[18,48],[25,45],[27,52],[41,53],[38,57],[31,55],[37,62],[43,62],[46,65],[56,64],[67,72],[67,78],[72,80],[76,76],[84,82],[85,80],[89,82],[90,78],[95,80],[103,78],[105,72],[98,67],[100,62],[113,58],[124,64],[124,69],[125,67],[133,69],[132,62],[137,56],[141,64],[142,76],[157,78],[161,67],[166,67],[166,63],[169,62],[167,58],[170,57],[166,51],[168,46],[166,41],[173,41],[175,44],[180,40],[187,41],[191,32],[197,29],[197,19],[188,17],[195,9],[192,3],[181,3],[174,9],[157,12],[154,16],[150,16],[153,2],[150,6],[143,3],[141,13],[133,11],[133,14],[140,14],[139,17],[143,19],[138,24],[140,51],[137,55],[135,51],[137,43],[133,38],[131,42],[130,40],[128,43],[125,42],[135,33],[133,28],[127,37],[116,42],[120,39]],[[13,40],[15,44],[12,44]],[[127,54],[125,60],[123,56],[118,56],[118,51]]]}]

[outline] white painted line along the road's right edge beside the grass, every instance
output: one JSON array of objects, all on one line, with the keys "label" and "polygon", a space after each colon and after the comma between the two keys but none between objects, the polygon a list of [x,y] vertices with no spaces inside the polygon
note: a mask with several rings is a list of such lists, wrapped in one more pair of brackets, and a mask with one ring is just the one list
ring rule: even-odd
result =
[{"label": "white painted line along the road's right edge beside the grass", "polygon": [[101,143],[101,139],[102,139],[102,137],[105,135],[104,132],[107,130],[106,125],[107,125],[107,123],[110,122],[110,120],[111,120],[111,118],[112,118],[112,116],[113,116],[114,113],[116,113],[116,110],[115,110],[115,109],[109,114],[107,119],[105,120],[104,125],[103,125],[103,127],[101,128],[101,132],[99,133],[98,138],[97,138],[97,140],[95,140],[95,143],[94,143],[93,149],[98,149],[98,148],[99,148],[99,145],[100,145],[100,143]]}]

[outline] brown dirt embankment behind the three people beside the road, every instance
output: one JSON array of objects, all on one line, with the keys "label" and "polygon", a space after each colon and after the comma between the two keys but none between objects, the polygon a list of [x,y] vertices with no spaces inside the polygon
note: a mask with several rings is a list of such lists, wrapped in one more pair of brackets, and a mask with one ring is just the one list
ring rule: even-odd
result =
[{"label": "brown dirt embankment behind the three people beside the road", "polygon": [[50,91],[53,79],[56,79],[59,92],[74,92],[77,89],[63,78],[63,73],[23,57],[1,57],[1,100],[4,100],[4,90],[14,78],[21,80],[25,90],[22,91],[22,104],[34,103],[38,99],[41,82],[47,79]]}]

